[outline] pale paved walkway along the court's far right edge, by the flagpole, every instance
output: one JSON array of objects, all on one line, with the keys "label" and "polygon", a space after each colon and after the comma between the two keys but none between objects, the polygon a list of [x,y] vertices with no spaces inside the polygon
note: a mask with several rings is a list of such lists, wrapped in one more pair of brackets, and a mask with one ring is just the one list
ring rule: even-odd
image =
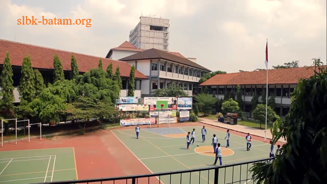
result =
[{"label": "pale paved walkway along the court's far right edge, by the flagpole", "polygon": [[[247,126],[242,126],[242,125],[230,125],[226,123],[221,123],[218,122],[217,120],[209,120],[205,118],[200,118],[202,121],[201,123],[208,124],[208,125],[213,125],[217,126],[220,128],[225,128],[233,131],[238,131],[242,133],[250,133],[251,135],[256,135],[260,137],[265,137],[265,130],[261,130],[258,128],[252,128],[252,127],[247,127]],[[267,129],[267,139],[272,139],[272,134],[270,133],[270,129]],[[279,142],[285,143],[284,138],[279,139]]]}]

